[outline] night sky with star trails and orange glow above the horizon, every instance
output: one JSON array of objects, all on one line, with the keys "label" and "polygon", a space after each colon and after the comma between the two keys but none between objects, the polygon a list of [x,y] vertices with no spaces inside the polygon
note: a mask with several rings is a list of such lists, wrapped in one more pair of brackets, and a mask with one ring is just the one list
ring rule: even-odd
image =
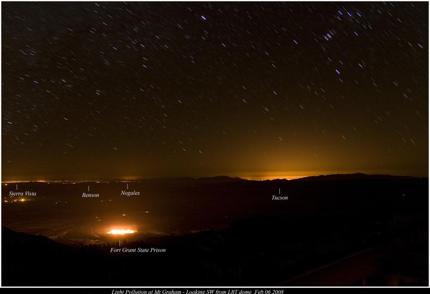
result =
[{"label": "night sky with star trails and orange glow above the horizon", "polygon": [[2,3],[3,180],[428,175],[428,3]]}]

